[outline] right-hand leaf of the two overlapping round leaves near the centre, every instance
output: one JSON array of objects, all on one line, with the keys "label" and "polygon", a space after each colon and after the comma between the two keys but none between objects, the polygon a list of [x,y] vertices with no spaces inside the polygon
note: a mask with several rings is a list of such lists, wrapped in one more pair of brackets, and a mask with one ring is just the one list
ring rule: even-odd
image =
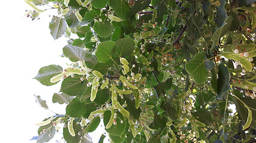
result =
[{"label": "right-hand leaf of the two overlapping round leaves near the centre", "polygon": [[119,57],[125,57],[128,55],[131,55],[135,47],[134,40],[131,38],[119,39],[115,43],[116,43],[116,53],[119,55]]}]

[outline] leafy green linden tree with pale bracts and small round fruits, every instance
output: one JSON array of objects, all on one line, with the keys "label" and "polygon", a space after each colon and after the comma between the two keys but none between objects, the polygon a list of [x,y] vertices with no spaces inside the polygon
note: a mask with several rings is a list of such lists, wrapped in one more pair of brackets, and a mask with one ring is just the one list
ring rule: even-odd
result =
[{"label": "leafy green linden tree with pale bracts and small round fruits", "polygon": [[35,76],[63,79],[52,101],[67,104],[38,124],[37,142],[61,124],[68,143],[91,142],[100,120],[111,142],[255,142],[254,1],[25,1],[32,20],[42,5],[58,10],[54,39],[77,35],[63,48],[69,67]]}]

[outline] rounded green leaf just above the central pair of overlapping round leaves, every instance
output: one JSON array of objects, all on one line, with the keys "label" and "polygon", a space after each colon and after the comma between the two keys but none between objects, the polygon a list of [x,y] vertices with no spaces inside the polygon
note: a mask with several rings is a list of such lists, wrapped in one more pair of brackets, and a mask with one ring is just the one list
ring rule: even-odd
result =
[{"label": "rounded green leaf just above the central pair of overlapping round leaves", "polygon": [[94,31],[102,38],[107,38],[112,34],[113,26],[109,21],[94,23]]}]

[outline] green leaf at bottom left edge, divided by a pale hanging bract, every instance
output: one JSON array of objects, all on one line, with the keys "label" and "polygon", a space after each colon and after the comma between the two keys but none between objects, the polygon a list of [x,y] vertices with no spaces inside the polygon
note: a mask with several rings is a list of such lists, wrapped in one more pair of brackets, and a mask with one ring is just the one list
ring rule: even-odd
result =
[{"label": "green leaf at bottom left edge, divided by a pale hanging bract", "polygon": [[81,140],[80,136],[78,135],[79,132],[83,132],[81,125],[74,122],[73,129],[74,129],[74,132],[76,133],[76,136],[71,136],[70,132],[68,131],[68,128],[63,128],[63,136],[65,141],[67,141],[67,143],[80,142]]}]

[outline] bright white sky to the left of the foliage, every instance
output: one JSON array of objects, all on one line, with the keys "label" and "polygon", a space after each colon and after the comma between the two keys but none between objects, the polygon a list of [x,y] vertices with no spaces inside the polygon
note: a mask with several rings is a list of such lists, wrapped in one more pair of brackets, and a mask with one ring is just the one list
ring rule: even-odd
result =
[{"label": "bright white sky to the left of the foliage", "polygon": [[53,115],[35,102],[34,95],[40,95],[50,110],[59,114],[65,114],[65,105],[52,102],[52,95],[59,91],[61,83],[44,86],[32,78],[41,67],[56,64],[65,68],[71,63],[60,56],[68,39],[53,40],[50,35],[49,15],[54,11],[32,21],[25,15],[25,10],[32,8],[23,0],[2,1],[1,6],[1,142],[34,143],[29,139],[37,136],[39,127],[35,123]]}]

